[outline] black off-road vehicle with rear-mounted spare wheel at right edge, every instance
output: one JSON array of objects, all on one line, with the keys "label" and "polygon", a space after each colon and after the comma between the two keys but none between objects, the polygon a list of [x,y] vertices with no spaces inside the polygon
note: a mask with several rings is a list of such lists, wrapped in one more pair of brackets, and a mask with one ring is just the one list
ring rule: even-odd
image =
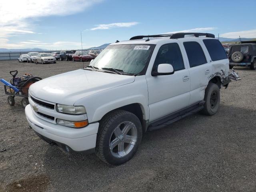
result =
[{"label": "black off-road vehicle with rear-mounted spare wheel at right edge", "polygon": [[232,45],[229,50],[229,68],[233,66],[250,66],[256,69],[256,41],[242,41]]}]

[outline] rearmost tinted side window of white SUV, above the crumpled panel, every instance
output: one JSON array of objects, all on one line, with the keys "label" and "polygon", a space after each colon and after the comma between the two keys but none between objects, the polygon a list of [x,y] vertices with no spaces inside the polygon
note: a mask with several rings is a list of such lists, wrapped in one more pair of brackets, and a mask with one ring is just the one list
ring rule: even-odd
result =
[{"label": "rearmost tinted side window of white SUV, above the crumpled panel", "polygon": [[222,47],[222,44],[215,39],[203,40],[206,49],[208,50],[212,61],[222,60],[227,58],[227,54]]}]

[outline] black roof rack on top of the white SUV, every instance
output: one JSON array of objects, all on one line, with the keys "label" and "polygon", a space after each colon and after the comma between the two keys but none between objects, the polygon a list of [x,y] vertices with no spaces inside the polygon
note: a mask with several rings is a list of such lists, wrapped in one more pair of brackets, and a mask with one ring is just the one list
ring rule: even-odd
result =
[{"label": "black roof rack on top of the white SUV", "polygon": [[211,33],[174,33],[174,34],[158,34],[158,35],[140,35],[140,36],[134,36],[130,38],[130,40],[135,40],[135,39],[143,39],[145,37],[150,38],[150,37],[170,37],[170,39],[178,39],[178,38],[184,38],[185,35],[194,35],[195,37],[199,36],[206,36],[210,38],[215,38],[214,34]]}]

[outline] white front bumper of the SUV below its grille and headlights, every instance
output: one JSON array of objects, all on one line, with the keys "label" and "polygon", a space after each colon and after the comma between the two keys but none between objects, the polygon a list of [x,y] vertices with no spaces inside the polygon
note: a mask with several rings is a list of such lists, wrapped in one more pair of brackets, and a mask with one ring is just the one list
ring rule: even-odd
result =
[{"label": "white front bumper of the SUV below its grille and headlights", "polygon": [[66,151],[91,151],[96,146],[98,122],[79,129],[53,124],[38,118],[30,104],[26,106],[25,114],[28,123],[40,138],[49,143],[57,144]]}]

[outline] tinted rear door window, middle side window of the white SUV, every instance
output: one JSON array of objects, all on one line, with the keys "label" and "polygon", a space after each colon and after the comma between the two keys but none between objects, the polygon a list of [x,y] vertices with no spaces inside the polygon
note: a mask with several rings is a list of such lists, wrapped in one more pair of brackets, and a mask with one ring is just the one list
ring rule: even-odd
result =
[{"label": "tinted rear door window, middle side window of the white SUV", "polygon": [[207,63],[202,47],[198,42],[189,41],[184,42],[183,44],[188,56],[190,67],[195,67]]}]

